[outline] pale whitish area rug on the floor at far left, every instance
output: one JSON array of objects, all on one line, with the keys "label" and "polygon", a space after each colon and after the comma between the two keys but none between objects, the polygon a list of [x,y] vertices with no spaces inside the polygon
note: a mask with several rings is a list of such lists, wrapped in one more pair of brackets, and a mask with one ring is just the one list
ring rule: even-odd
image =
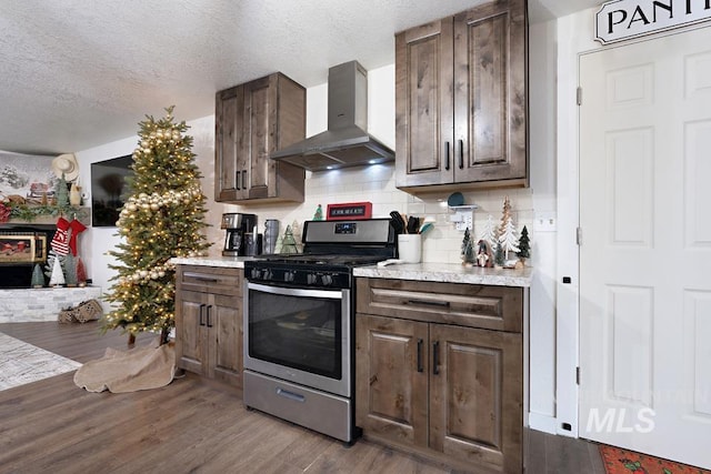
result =
[{"label": "pale whitish area rug on the floor at far left", "polygon": [[0,333],[0,391],[79,369],[81,364]]}]

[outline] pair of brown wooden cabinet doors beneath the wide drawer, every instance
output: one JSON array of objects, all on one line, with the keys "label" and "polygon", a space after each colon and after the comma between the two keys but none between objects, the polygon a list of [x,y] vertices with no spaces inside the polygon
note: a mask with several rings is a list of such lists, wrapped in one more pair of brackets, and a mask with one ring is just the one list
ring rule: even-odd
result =
[{"label": "pair of brown wooden cabinet doors beneath the wide drawer", "polygon": [[521,333],[357,315],[368,438],[475,472],[522,471]]}]

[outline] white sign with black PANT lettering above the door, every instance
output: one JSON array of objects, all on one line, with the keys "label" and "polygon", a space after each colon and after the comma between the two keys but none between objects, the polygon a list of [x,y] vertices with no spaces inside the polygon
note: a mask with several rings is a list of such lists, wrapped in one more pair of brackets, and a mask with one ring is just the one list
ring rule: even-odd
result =
[{"label": "white sign with black PANT lettering above the door", "polygon": [[612,0],[595,14],[603,44],[711,20],[711,0]]}]

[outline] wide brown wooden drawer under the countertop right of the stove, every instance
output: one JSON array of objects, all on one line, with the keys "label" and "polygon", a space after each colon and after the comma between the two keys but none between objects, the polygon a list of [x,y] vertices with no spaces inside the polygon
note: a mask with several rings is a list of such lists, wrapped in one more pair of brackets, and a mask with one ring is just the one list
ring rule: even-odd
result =
[{"label": "wide brown wooden drawer under the countertop right of the stove", "polygon": [[520,333],[523,289],[357,279],[357,311],[405,320]]}]

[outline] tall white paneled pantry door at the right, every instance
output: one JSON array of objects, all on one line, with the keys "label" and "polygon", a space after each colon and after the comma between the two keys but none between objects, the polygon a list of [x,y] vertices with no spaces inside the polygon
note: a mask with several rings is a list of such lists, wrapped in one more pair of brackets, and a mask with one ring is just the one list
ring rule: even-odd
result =
[{"label": "tall white paneled pantry door at the right", "polygon": [[579,67],[579,435],[709,468],[711,28]]}]

